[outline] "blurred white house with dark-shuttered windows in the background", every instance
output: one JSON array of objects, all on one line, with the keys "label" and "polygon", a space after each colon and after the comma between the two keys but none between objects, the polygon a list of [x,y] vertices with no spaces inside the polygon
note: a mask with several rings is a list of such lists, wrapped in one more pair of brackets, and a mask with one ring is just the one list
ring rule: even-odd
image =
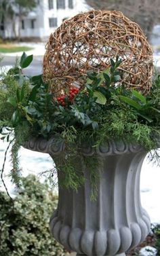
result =
[{"label": "blurred white house with dark-shuttered windows in the background", "polygon": [[[45,40],[54,29],[60,26],[63,20],[84,10],[87,10],[87,7],[79,0],[40,0],[35,10],[22,19],[20,24],[21,38]],[[5,24],[4,38],[14,38],[15,31],[18,34],[18,16],[15,23],[14,29],[12,20]]]}]

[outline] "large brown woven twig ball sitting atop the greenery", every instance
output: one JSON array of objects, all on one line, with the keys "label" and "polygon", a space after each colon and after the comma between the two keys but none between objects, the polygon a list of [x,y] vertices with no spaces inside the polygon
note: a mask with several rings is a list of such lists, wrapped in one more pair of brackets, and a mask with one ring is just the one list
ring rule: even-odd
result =
[{"label": "large brown woven twig ball sitting atop the greenery", "polygon": [[88,71],[110,67],[121,58],[121,82],[146,94],[151,87],[153,54],[140,26],[121,12],[91,10],[65,20],[50,35],[43,75],[54,94],[83,87]]}]

